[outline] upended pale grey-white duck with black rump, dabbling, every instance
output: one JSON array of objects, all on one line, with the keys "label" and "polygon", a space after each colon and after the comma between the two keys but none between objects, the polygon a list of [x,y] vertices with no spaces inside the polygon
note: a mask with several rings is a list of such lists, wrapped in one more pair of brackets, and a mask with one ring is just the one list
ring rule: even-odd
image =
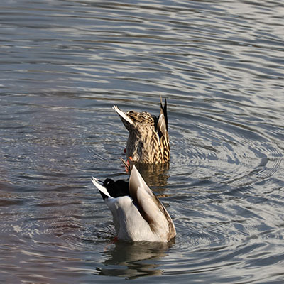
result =
[{"label": "upended pale grey-white duck with black rump, dabbling", "polygon": [[104,182],[92,178],[92,182],[111,210],[117,239],[167,242],[175,236],[175,225],[170,215],[135,165],[129,182],[110,178]]}]

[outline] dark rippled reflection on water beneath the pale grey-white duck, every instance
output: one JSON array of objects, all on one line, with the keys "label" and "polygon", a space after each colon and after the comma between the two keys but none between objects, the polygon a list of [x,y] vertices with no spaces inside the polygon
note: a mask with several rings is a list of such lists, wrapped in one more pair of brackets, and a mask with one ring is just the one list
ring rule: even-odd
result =
[{"label": "dark rippled reflection on water beneath the pale grey-white duck", "polygon": [[104,267],[97,268],[99,275],[121,276],[128,279],[140,278],[150,275],[162,275],[163,270],[153,260],[160,260],[167,255],[174,244],[136,242],[125,243],[122,241],[111,244],[104,251],[107,258]]}]

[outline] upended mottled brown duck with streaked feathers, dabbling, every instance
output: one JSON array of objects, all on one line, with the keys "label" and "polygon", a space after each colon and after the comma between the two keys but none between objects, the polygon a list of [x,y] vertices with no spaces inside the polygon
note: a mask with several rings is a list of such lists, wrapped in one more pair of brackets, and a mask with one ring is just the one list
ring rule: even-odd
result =
[{"label": "upended mottled brown duck with streaked feathers, dabbling", "polygon": [[167,100],[163,106],[160,99],[160,115],[154,116],[146,111],[121,111],[114,106],[121,121],[129,131],[126,156],[134,163],[165,163],[170,160],[168,137]]}]

